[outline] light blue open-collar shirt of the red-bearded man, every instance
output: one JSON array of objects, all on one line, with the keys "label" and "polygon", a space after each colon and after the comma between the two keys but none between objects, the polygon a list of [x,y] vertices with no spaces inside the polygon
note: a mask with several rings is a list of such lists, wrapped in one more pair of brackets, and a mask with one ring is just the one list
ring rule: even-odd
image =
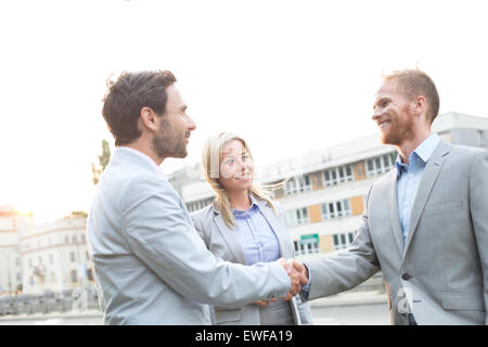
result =
[{"label": "light blue open-collar shirt of the red-bearded man", "polygon": [[409,165],[401,162],[400,155],[397,156],[398,216],[400,217],[403,244],[409,232],[410,216],[422,174],[439,141],[440,138],[436,133],[431,134],[410,154]]}]

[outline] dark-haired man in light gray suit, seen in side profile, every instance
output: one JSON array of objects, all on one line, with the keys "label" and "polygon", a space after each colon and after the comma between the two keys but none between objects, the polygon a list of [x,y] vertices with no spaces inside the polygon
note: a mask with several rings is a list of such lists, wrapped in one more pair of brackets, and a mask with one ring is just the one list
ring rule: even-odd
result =
[{"label": "dark-haired man in light gray suit, seen in side profile", "polygon": [[209,324],[213,305],[291,299],[307,279],[286,260],[246,267],[207,250],[159,165],[187,156],[195,124],[170,72],[124,73],[103,116],[117,146],[88,219],[105,324]]}]

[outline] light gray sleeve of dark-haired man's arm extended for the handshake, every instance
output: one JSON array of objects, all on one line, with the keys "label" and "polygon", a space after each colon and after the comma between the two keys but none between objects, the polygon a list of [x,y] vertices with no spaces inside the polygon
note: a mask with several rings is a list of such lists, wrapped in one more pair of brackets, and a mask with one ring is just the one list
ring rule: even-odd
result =
[{"label": "light gray sleeve of dark-haired man's arm extended for the handshake", "polygon": [[191,226],[166,181],[131,181],[124,194],[125,232],[132,252],[174,291],[211,305],[246,305],[286,296],[291,281],[277,262],[245,267],[216,258]]}]

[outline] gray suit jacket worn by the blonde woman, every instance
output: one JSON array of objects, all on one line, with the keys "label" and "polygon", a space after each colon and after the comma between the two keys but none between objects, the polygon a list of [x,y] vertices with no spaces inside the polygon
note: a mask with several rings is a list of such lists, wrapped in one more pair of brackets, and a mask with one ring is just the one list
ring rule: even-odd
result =
[{"label": "gray suit jacket worn by the blonde woman", "polygon": [[[285,217],[280,204],[274,203],[274,207],[279,211],[279,218],[265,201],[256,200],[262,216],[271,226],[277,234],[280,245],[281,257],[294,258],[295,248],[290,239],[290,234],[285,224]],[[221,214],[215,208],[214,204],[191,214],[195,229],[204,240],[207,248],[219,258],[227,261],[246,265],[243,248],[240,244],[235,230],[227,227]],[[280,300],[279,300],[280,301]],[[296,295],[290,301],[290,308],[295,324],[312,324],[312,317],[309,305],[301,303],[299,295]],[[211,310],[211,308],[210,308]],[[270,322],[261,322],[259,314],[259,306],[255,304],[239,306],[233,304],[227,307],[214,307],[216,324],[233,324],[233,325],[259,325],[275,324],[282,317],[278,317],[280,311],[271,312]]]}]

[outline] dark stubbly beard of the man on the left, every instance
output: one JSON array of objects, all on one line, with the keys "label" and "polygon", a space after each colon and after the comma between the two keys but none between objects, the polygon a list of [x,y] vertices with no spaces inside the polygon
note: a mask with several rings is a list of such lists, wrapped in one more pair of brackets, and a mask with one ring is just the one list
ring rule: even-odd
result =
[{"label": "dark stubbly beard of the man on the left", "polygon": [[184,158],[188,155],[184,132],[171,127],[166,118],[160,121],[151,145],[160,158]]}]

